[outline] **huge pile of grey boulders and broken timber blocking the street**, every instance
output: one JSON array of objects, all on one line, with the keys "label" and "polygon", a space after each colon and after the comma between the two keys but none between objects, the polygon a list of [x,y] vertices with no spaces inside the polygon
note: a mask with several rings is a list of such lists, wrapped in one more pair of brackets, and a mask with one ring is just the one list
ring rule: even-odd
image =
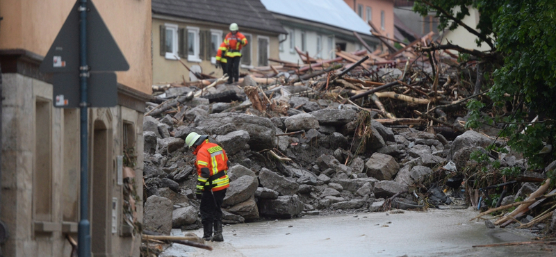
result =
[{"label": "huge pile of grey boulders and broken timber blocking the street", "polygon": [[[201,227],[195,156],[184,146],[191,132],[210,135],[231,160],[226,224],[484,207],[499,188],[480,188],[505,177],[480,173],[470,156],[505,142],[465,130],[465,104],[484,93],[476,61],[427,51],[431,38],[393,53],[337,51],[330,60],[298,51],[303,64],[270,59],[280,65],[250,69],[238,84],[222,77],[153,86],[143,123],[145,229]],[[491,170],[527,168],[511,151],[497,154]],[[160,213],[168,208],[171,217]]]}]

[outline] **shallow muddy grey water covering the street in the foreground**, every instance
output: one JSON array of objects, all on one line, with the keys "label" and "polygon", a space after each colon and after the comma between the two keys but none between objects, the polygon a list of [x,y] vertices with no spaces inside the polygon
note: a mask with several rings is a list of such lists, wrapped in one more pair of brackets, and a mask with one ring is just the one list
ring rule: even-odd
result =
[{"label": "shallow muddy grey water covering the street in the foreground", "polygon": [[[163,256],[554,256],[544,244],[473,248],[530,241],[512,229],[486,229],[473,210],[358,213],[224,227],[214,251],[173,246]],[[176,231],[181,233],[179,231]],[[202,235],[202,231],[194,231]]]}]

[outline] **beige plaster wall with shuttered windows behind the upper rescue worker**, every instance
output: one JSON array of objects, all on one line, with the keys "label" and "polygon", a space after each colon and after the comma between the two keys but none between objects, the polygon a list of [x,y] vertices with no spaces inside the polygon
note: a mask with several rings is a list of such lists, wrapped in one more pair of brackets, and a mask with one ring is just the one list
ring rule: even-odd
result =
[{"label": "beige plaster wall with shuttered windows behind the upper rescue worker", "polygon": [[[182,76],[186,78],[186,81],[190,81],[189,79],[189,72],[186,67],[183,67],[178,60],[169,60],[166,59],[165,56],[160,55],[160,27],[163,24],[177,24],[179,28],[186,28],[187,26],[194,26],[199,28],[201,31],[208,31],[210,29],[220,30],[222,31],[222,40],[227,33],[229,33],[229,28],[227,25],[223,24],[211,24],[211,23],[199,23],[199,22],[179,22],[179,21],[170,21],[170,20],[163,20],[163,19],[152,19],[152,44],[153,44],[153,84],[166,84],[172,83],[176,81],[183,81]],[[250,30],[247,28],[240,28],[241,33],[249,33],[252,35],[252,40],[247,44],[250,44],[252,47],[252,66],[257,66],[257,62],[259,60],[258,56],[258,44],[257,44],[257,36],[267,36],[270,38],[270,57],[271,58],[279,58],[279,40],[277,35],[270,35],[270,34],[263,34],[259,31]],[[188,67],[193,65],[199,65],[202,68],[202,72],[204,74],[211,74],[212,76],[220,77],[224,73],[222,69],[216,68],[215,65],[211,64],[209,60],[202,60],[200,63],[196,62],[189,62],[187,58],[181,58],[183,63],[186,63]],[[247,72],[246,69],[240,69],[240,72]]]}]

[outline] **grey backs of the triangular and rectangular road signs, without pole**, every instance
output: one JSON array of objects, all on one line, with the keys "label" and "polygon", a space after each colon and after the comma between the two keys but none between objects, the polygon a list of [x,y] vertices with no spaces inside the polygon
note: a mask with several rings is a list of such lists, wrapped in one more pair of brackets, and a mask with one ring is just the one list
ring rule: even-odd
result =
[{"label": "grey backs of the triangular and rectangular road signs, without pole", "polygon": [[[124,58],[97,8],[88,4],[88,107],[117,105],[117,81],[113,72],[126,71]],[[67,16],[39,70],[52,73],[54,107],[79,108],[79,1]]]}]

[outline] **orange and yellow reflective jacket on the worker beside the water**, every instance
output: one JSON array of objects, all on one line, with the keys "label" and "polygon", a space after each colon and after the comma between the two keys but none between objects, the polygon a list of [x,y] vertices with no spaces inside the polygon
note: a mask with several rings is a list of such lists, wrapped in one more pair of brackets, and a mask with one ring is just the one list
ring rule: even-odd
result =
[{"label": "orange and yellow reflective jacket on the worker beside the water", "polygon": [[228,156],[222,147],[208,142],[207,139],[195,149],[193,154],[197,156],[195,160],[199,175],[197,180],[202,184],[197,184],[197,189],[208,190],[212,185],[213,191],[220,191],[229,187]]}]

